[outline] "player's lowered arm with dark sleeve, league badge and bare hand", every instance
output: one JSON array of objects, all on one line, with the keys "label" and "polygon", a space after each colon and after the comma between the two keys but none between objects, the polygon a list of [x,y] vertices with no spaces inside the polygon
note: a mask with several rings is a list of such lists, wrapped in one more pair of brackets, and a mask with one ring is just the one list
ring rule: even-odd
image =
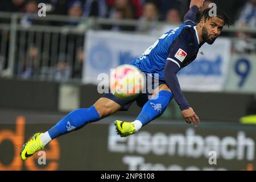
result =
[{"label": "player's lowered arm with dark sleeve, league badge and bare hand", "polygon": [[197,117],[192,107],[189,106],[188,101],[180,89],[179,80],[176,76],[177,72],[181,69],[181,64],[185,60],[185,57],[189,55],[189,36],[187,34],[188,32],[181,32],[175,42],[170,46],[167,63],[164,67],[164,81],[166,81],[168,87],[171,89],[185,121],[187,123],[193,122],[196,126],[199,123],[199,117]]}]

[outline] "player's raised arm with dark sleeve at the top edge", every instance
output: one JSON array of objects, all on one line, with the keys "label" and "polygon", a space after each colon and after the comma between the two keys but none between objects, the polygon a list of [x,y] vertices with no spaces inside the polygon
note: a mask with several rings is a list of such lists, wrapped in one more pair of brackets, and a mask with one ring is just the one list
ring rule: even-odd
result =
[{"label": "player's raised arm with dark sleeve at the top edge", "polygon": [[189,10],[185,14],[183,23],[187,24],[196,24],[196,14],[199,12],[199,9],[203,7],[204,0],[191,0]]}]

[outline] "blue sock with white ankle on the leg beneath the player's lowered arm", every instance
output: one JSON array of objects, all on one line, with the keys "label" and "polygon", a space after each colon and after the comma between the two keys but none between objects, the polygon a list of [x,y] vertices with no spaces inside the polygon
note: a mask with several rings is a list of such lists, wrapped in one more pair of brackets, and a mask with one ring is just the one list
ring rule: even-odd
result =
[{"label": "blue sock with white ankle on the leg beneath the player's lowered arm", "polygon": [[161,90],[158,96],[148,100],[134,121],[135,131],[138,131],[142,126],[147,125],[147,123],[162,115],[171,100],[172,93],[167,90]]}]

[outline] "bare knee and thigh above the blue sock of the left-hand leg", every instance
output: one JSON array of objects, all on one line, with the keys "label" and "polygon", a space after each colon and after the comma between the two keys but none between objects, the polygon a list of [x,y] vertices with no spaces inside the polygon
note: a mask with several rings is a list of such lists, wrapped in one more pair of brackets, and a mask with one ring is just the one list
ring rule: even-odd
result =
[{"label": "bare knee and thigh above the blue sock of the left-hand leg", "polygon": [[101,97],[97,102],[95,102],[94,107],[101,118],[112,115],[121,109],[121,105],[105,97]]}]

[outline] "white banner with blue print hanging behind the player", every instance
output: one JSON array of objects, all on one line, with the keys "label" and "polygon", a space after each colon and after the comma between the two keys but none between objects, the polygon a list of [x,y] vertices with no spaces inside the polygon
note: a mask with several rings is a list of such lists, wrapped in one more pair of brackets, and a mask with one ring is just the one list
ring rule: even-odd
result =
[{"label": "white banner with blue print hanging behind the player", "polygon": [[[100,73],[109,74],[110,69],[130,63],[155,42],[149,35],[131,35],[120,32],[88,31],[86,34],[86,60],[83,81],[98,84]],[[230,60],[230,40],[220,38],[209,46],[204,44],[197,59],[178,75],[180,85],[187,91],[223,90]],[[97,79],[98,78],[98,79]]]}]

